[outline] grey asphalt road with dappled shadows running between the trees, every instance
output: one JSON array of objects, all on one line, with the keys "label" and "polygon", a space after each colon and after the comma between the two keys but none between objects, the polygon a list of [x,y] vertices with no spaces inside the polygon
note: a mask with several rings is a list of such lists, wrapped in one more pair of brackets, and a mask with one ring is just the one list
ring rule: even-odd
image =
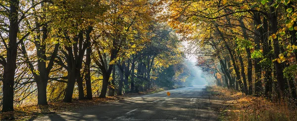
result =
[{"label": "grey asphalt road with dappled shadows running between the trees", "polygon": [[185,87],[77,111],[43,116],[34,121],[217,121],[222,101],[203,86]]}]

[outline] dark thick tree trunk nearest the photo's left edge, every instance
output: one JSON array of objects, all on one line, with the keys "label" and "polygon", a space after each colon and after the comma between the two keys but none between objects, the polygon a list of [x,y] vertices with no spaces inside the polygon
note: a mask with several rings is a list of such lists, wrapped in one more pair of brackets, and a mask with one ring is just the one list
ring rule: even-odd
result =
[{"label": "dark thick tree trunk nearest the photo's left edge", "polygon": [[19,0],[10,0],[9,11],[9,41],[6,51],[6,64],[4,65],[3,73],[3,97],[2,97],[2,112],[13,111],[13,85],[14,75],[16,69],[16,55],[17,55],[17,33],[19,29],[18,24],[18,8]]}]

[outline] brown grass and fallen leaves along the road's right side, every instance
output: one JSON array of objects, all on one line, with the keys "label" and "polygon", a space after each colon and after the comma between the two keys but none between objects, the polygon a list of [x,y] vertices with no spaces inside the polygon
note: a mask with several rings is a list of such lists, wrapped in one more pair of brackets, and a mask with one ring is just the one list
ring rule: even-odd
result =
[{"label": "brown grass and fallen leaves along the road's right side", "polygon": [[208,86],[206,90],[224,99],[220,121],[297,121],[297,107],[288,100],[272,102],[219,86]]}]

